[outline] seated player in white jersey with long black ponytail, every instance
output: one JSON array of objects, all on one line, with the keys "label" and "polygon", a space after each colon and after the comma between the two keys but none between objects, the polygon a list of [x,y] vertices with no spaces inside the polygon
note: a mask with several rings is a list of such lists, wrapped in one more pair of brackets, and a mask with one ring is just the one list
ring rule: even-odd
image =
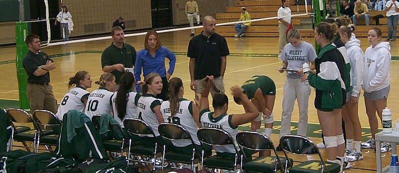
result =
[{"label": "seated player in white jersey with long black ponytail", "polygon": [[137,102],[140,94],[133,91],[135,87],[134,75],[124,73],[120,79],[117,92],[112,95],[112,112],[115,120],[124,128],[123,121],[127,118],[137,118]]}]

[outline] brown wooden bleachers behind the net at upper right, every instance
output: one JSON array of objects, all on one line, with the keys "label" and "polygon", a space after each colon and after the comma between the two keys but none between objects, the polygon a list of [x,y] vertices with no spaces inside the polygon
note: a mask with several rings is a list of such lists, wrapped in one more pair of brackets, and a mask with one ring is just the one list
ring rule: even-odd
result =
[{"label": "brown wooden bleachers behind the net at upper right", "polygon": [[[265,18],[265,17],[275,17],[277,16],[277,10],[281,6],[281,0],[243,0],[237,1],[235,6],[226,7],[225,13],[216,13],[216,23],[225,23],[238,21],[241,6],[245,6],[246,10],[251,14],[252,19]],[[292,14],[302,14],[305,13],[305,5],[290,5]],[[307,6],[308,11],[311,11],[311,5]],[[365,25],[364,19],[358,20],[358,25],[356,26],[355,34],[357,37],[367,37],[367,32],[370,28],[376,27],[376,21],[373,16],[382,14],[384,18],[380,18],[380,27],[384,33],[383,37],[388,35],[387,33],[387,18],[386,11],[370,11],[370,26]],[[312,29],[312,18],[309,15],[294,16],[291,19],[292,24],[295,28],[298,28],[301,35],[304,37],[313,37],[314,30]],[[199,34],[202,28],[196,29],[196,34]],[[217,26],[215,31],[222,36],[234,36],[237,32],[234,29],[234,24]],[[278,37],[278,20],[262,20],[254,21],[251,26],[246,28],[244,31],[245,36],[273,36]]]}]

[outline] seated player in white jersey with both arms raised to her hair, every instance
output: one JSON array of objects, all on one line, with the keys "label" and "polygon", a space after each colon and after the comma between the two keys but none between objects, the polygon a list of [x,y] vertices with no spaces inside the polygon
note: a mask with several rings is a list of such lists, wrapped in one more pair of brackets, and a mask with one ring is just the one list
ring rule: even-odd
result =
[{"label": "seated player in white jersey with both arms raised to her hair", "polygon": [[[208,95],[210,90],[210,83],[213,76],[206,76],[208,81],[205,83],[205,88],[201,91],[200,98],[200,123],[202,127],[222,129],[229,133],[233,138],[235,146],[238,148],[235,137],[238,133],[238,126],[254,120],[258,116],[258,110],[248,98],[243,94],[242,89],[238,86],[231,87],[231,92],[234,97],[241,99],[241,103],[246,110],[243,114],[227,114],[228,98],[225,94],[215,94],[212,100],[214,112],[209,110]],[[213,147],[216,155],[220,157],[234,158],[235,150],[232,146]],[[244,149],[245,150],[245,149]],[[244,151],[246,157],[251,157],[253,152]]]}]

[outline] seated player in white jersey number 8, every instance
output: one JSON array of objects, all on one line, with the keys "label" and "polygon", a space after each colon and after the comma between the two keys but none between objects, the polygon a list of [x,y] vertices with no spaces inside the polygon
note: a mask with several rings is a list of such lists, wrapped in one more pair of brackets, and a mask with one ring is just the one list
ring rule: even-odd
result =
[{"label": "seated player in white jersey number 8", "polygon": [[[87,98],[90,95],[86,89],[91,88],[91,82],[87,71],[78,71],[75,76],[69,78],[69,91],[62,98],[56,114],[60,120],[69,110],[84,111]],[[75,87],[72,88],[72,86]]]}]

